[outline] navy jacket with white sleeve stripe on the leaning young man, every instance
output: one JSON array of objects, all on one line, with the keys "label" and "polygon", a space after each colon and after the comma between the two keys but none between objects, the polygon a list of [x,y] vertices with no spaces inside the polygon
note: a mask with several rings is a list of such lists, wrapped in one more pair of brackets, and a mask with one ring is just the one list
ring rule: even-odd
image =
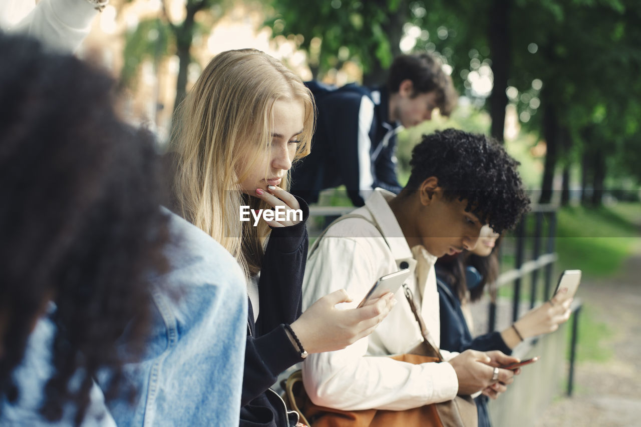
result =
[{"label": "navy jacket with white sleeve stripe on the leaning young man", "polygon": [[[397,123],[390,123],[386,88],[328,88],[307,82],[317,103],[312,153],[292,169],[291,192],[308,203],[324,188],[345,185],[355,206],[376,187],[398,193]],[[320,89],[318,89],[320,87]]]}]

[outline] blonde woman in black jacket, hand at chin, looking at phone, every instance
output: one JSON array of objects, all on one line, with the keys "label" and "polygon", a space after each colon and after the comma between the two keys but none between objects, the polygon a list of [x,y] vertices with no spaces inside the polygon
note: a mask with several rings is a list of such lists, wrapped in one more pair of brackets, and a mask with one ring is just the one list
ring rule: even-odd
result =
[{"label": "blonde woman in black jacket, hand at chin, looking at phone", "polygon": [[[314,105],[296,74],[261,51],[220,53],[180,113],[178,208],[236,257],[247,278],[240,425],[294,425],[296,415],[269,389],[278,374],[309,353],[342,349],[369,334],[394,297],[340,310],[335,305],[351,299],[339,290],[301,314],[308,206],[288,193],[288,171],[310,153]],[[270,221],[262,216],[268,210],[282,217]]]}]

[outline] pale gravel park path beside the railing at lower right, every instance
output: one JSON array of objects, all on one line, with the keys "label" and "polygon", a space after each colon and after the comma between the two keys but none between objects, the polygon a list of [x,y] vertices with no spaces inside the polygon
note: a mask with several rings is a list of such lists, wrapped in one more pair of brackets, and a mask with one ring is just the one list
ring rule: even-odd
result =
[{"label": "pale gravel park path beside the railing at lower right", "polygon": [[641,426],[641,241],[635,253],[613,278],[584,280],[579,289],[590,306],[581,315],[608,325],[601,345],[612,358],[577,364],[572,398],[556,399],[535,427]]}]

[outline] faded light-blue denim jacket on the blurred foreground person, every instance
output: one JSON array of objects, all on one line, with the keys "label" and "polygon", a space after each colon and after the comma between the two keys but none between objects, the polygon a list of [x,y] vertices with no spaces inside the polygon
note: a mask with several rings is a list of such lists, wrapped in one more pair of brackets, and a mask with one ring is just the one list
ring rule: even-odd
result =
[{"label": "faded light-blue denim jacket on the blurred foreground person", "polygon": [[[108,385],[110,373],[101,373],[83,427],[238,425],[247,326],[242,272],[210,236],[167,213],[171,237],[165,251],[171,268],[154,278],[146,353],[123,368],[137,389],[135,399],[130,404],[129,393],[123,393],[105,405],[98,386]],[[52,374],[54,332],[49,316],[37,322],[13,373],[19,400],[0,402],[0,426],[74,425],[71,407],[58,423],[38,414]]]}]

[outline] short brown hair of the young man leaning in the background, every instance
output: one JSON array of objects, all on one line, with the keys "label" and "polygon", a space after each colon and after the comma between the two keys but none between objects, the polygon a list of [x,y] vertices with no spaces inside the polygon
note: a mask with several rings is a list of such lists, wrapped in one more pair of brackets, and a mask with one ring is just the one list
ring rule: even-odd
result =
[{"label": "short brown hair of the young man leaning in the background", "polygon": [[442,63],[428,53],[399,55],[394,59],[387,75],[390,93],[399,91],[403,80],[411,80],[413,96],[435,92],[441,115],[450,115],[458,101],[452,78],[443,71]]}]

